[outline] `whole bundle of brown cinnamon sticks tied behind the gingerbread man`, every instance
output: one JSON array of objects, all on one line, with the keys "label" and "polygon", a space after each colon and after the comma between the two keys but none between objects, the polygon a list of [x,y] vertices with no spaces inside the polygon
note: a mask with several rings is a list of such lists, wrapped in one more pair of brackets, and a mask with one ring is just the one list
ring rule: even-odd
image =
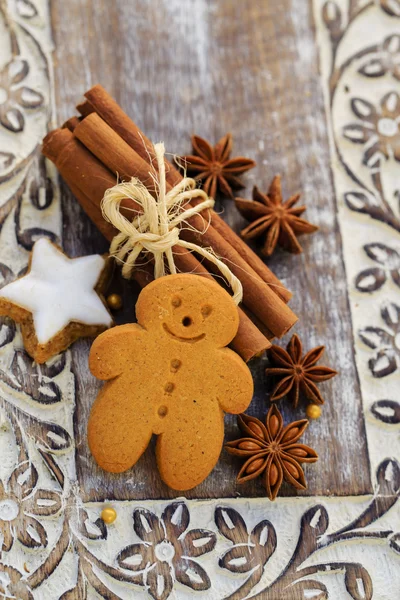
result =
[{"label": "whole bundle of brown cinnamon sticks tied behind the gingerbread man", "polygon": [[[85,94],[77,106],[80,116],[69,119],[62,128],[50,132],[43,142],[43,154],[57,166],[62,177],[98,229],[112,240],[117,231],[104,220],[101,200],[117,179],[138,177],[154,194],[151,166],[154,148],[139,127],[100,86]],[[167,160],[168,190],[182,180],[179,171]],[[191,201],[192,205],[196,200]],[[139,207],[127,198],[121,212],[132,219]],[[203,247],[212,247],[243,285],[239,307],[240,326],[233,348],[246,361],[261,354],[274,337],[282,337],[297,321],[287,306],[291,293],[262,260],[238,237],[213,210],[190,219],[190,229],[182,229],[182,238]],[[174,246],[174,260],[182,272],[218,275],[211,263],[200,262],[195,254]],[[152,280],[148,261],[135,270],[133,277],[141,287]],[[220,278],[217,279],[220,281]]]}]

